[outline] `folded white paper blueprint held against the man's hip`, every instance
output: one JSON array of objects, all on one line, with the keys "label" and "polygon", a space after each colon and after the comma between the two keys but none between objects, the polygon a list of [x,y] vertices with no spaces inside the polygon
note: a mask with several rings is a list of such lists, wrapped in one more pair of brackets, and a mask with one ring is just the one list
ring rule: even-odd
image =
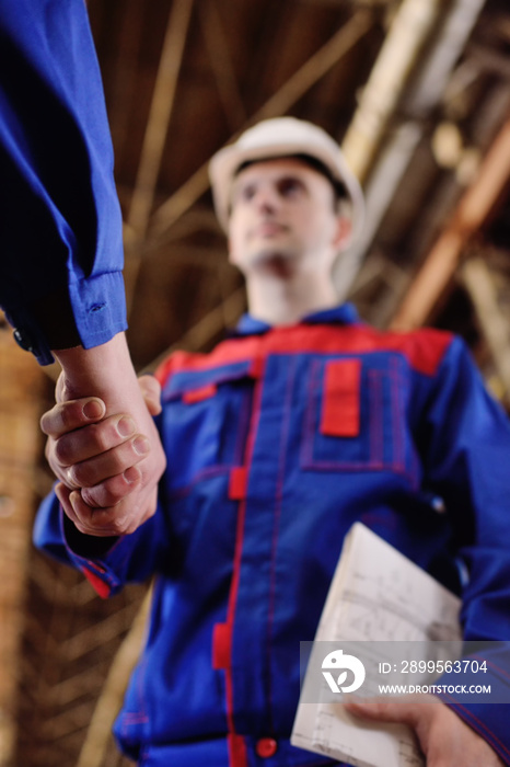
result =
[{"label": "folded white paper blueprint held against the man's hip", "polygon": [[[340,661],[360,660],[366,676],[356,695],[363,697],[380,695],[381,680],[430,684],[430,674],[417,669],[418,661],[436,666],[439,660],[460,657],[460,599],[428,573],[356,523],[346,537],[311,649],[293,745],[355,767],[422,767],[425,759],[413,731],[403,724],[351,717],[341,705],[348,695],[341,690],[348,688],[338,687],[347,672],[338,676],[337,685],[338,668],[329,675],[323,664],[337,654],[332,649],[339,645]],[[381,667],[387,669],[384,677]]]}]

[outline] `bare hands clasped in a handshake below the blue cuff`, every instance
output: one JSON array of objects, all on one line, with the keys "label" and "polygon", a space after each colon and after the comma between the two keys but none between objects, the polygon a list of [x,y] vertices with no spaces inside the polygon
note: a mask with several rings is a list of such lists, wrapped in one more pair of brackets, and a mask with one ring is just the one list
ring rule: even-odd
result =
[{"label": "bare hands clasped in a handshake below the blue cuff", "polygon": [[132,533],[155,512],[158,481],[165,467],[151,417],[161,410],[160,386],[151,376],[140,378],[137,396],[143,412],[140,417],[135,411],[135,407],[129,413],[108,415],[98,398],[63,401],[62,379],[57,384],[57,404],[40,421],[48,435],[46,457],[60,480],[57,496],[81,533],[101,537]]}]

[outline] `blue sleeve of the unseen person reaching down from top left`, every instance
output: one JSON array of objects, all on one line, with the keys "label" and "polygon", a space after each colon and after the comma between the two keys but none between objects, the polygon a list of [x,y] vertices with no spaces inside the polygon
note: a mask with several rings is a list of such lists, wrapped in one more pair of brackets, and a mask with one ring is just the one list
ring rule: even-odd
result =
[{"label": "blue sleeve of the unseen person reaching down from top left", "polygon": [[39,363],[126,329],[121,215],[83,0],[0,3],[0,307]]}]

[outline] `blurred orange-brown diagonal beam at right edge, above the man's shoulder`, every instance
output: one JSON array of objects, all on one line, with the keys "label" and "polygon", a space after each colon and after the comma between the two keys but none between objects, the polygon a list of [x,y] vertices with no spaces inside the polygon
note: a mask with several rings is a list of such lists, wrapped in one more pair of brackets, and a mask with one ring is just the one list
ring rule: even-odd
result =
[{"label": "blurred orange-brown diagonal beam at right edge, above the man's shoulder", "polygon": [[487,220],[510,181],[510,119],[487,152],[479,173],[462,197],[390,323],[392,330],[418,328],[432,313],[475,232]]}]

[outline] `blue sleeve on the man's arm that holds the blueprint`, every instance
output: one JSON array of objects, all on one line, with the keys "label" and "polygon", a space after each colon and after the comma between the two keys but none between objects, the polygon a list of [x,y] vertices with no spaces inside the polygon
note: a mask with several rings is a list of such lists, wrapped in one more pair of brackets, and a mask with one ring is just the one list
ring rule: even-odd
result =
[{"label": "blue sleeve on the man's arm that holds the blueprint", "polygon": [[[426,476],[444,499],[465,574],[464,638],[482,641],[476,656],[487,661],[486,673],[462,682],[491,686],[491,695],[441,697],[510,765],[510,425],[459,339],[439,371],[424,434]],[[484,642],[495,640],[487,650]],[[438,684],[459,682],[449,674]]]}]

